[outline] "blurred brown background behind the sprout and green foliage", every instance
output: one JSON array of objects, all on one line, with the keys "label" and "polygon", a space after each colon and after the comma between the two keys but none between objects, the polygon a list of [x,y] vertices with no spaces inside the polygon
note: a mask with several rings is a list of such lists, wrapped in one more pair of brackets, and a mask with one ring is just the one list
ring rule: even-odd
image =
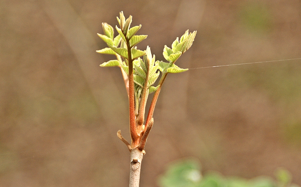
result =
[{"label": "blurred brown background behind the sprout and green foliage", "polygon": [[[123,11],[163,60],[197,30],[182,68],[301,58],[301,1],[0,1],[0,186],[128,186],[128,98],[96,35]],[[116,34],[115,34],[116,35]],[[300,60],[169,74],[154,112],[141,186],[170,161],[252,178],[278,167],[301,185]],[[152,95],[149,99],[152,98]]]}]

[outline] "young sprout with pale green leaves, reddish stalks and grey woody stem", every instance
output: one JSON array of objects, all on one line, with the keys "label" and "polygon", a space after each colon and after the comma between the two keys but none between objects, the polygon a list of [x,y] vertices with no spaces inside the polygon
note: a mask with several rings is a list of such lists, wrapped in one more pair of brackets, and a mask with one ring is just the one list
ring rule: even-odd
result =
[{"label": "young sprout with pale green leaves, reddish stalks and grey woody stem", "polygon": [[[116,60],[104,62],[100,66],[118,66],[123,75],[129,97],[131,144],[121,136],[120,130],[117,132],[117,136],[126,144],[131,153],[129,186],[138,187],[141,161],[145,154],[144,146],[154,124],[153,114],[161,87],[168,73],[180,73],[188,70],[182,69],[174,63],[191,47],[197,31],[188,33],[187,30],[180,39],[177,38],[172,43],[172,48],[165,45],[163,56],[168,62],[156,61],[155,55],[152,56],[151,54],[150,47],[147,46],[144,51],[135,47],[147,37],[147,35],[135,35],[141,25],[130,28],[132,16],[130,15],[129,18],[125,19],[122,11],[119,14],[120,17],[117,17],[117,21],[120,28],[117,25],[115,27],[118,35],[114,37],[113,27],[107,23],[102,23],[104,35],[98,34],[98,36],[107,43],[108,47],[96,52],[115,55]],[[158,85],[152,86],[158,79],[160,72],[162,76]],[[152,92],[155,92],[154,97],[144,123],[147,97]]]}]

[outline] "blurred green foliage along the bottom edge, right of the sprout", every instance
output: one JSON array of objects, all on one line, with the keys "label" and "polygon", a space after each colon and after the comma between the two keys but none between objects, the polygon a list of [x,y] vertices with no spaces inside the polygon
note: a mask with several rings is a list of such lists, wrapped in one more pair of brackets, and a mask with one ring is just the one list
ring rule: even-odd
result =
[{"label": "blurred green foliage along the bottom edge, right of the sprout", "polygon": [[291,184],[291,175],[282,168],[276,172],[277,180],[268,176],[253,179],[224,177],[216,172],[201,173],[200,164],[193,159],[171,164],[164,175],[159,177],[161,187],[298,187]]}]

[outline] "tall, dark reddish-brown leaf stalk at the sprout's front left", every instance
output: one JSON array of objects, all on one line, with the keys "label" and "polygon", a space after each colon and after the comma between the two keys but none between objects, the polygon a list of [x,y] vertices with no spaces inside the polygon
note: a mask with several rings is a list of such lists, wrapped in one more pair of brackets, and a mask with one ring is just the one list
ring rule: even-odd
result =
[{"label": "tall, dark reddish-brown leaf stalk at the sprout's front left", "polygon": [[[126,37],[126,36],[125,36]],[[132,51],[130,48],[129,40],[126,41],[128,48],[128,61],[129,61],[129,117],[130,117],[130,134],[132,138],[132,147],[135,147],[138,141],[138,134],[135,122],[135,95],[134,95],[134,75],[133,75],[133,60]]]}]

